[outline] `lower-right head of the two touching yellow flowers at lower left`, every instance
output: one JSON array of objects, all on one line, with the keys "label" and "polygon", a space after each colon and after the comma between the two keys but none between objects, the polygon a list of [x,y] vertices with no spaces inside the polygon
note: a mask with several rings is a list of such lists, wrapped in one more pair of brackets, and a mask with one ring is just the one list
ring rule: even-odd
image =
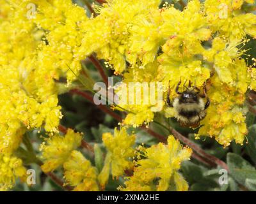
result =
[{"label": "lower-right head of the two touching yellow flowers at lower left", "polygon": [[73,150],[63,168],[67,184],[76,186],[74,191],[99,191],[97,170],[81,152]]}]

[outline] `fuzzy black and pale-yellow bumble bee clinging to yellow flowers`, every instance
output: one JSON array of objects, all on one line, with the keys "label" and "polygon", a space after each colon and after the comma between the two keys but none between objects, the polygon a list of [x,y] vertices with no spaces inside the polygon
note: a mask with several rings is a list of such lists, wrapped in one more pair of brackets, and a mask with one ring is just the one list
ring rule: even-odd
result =
[{"label": "fuzzy black and pale-yellow bumble bee clinging to yellow flowers", "polygon": [[[200,94],[200,90],[193,86],[189,81],[189,86],[186,87],[184,83],[185,91],[179,92],[179,85],[177,85],[175,91],[179,96],[173,99],[173,103],[170,102],[170,87],[166,99],[166,103],[173,107],[175,110],[175,118],[180,122],[181,126],[196,128],[200,124],[200,120],[204,119],[206,115],[206,109],[210,105],[210,100],[206,94],[206,88],[204,85],[204,93]],[[206,98],[206,102],[203,98]]]}]

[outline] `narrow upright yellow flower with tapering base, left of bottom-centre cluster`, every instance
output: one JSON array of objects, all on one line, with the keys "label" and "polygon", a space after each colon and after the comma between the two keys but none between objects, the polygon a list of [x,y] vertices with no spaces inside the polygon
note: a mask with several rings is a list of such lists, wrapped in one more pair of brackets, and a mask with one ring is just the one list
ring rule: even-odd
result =
[{"label": "narrow upright yellow flower with tapering base, left of bottom-centre cluster", "polygon": [[128,135],[125,128],[120,131],[115,128],[114,135],[104,133],[102,140],[108,150],[104,167],[99,174],[100,186],[104,187],[110,171],[112,176],[117,178],[124,174],[124,170],[131,170],[133,167],[130,159],[134,156],[132,146],[135,143],[135,135]]}]

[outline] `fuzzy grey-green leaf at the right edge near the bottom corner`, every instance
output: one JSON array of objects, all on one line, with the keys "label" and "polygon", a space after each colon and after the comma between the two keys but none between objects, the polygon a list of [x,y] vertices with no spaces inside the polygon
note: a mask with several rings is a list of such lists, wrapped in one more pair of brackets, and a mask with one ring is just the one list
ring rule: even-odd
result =
[{"label": "fuzzy grey-green leaf at the right edge near the bottom corner", "polygon": [[245,186],[246,179],[256,179],[256,170],[255,168],[244,160],[243,157],[234,154],[227,154],[227,164],[230,170],[232,177]]}]

